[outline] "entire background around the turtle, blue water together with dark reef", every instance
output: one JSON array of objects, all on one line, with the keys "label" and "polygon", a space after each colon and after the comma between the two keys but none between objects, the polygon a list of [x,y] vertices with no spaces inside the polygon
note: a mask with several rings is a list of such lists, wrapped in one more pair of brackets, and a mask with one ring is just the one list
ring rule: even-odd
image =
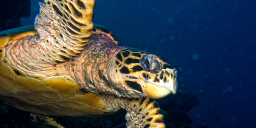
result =
[{"label": "entire background around the turtle, blue water together with dark reef", "polygon": [[[1,0],[0,31],[34,25],[38,2]],[[154,53],[177,69],[176,94],[156,99],[166,128],[254,128],[255,12],[253,0],[95,0],[92,21],[122,46]],[[56,119],[66,127],[117,128],[126,127],[125,114]],[[0,99],[0,127],[43,126]]]}]

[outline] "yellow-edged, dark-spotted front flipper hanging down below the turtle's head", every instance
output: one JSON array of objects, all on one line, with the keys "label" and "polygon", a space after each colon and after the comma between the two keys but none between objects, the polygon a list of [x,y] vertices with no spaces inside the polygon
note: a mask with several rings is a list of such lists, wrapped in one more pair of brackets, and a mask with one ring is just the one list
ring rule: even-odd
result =
[{"label": "yellow-edged, dark-spotted front flipper hanging down below the turtle's head", "polygon": [[116,97],[108,95],[106,98],[105,107],[110,109],[123,108],[127,111],[125,119],[127,128],[164,128],[163,115],[158,104],[154,99],[141,98],[130,99],[124,97]]}]

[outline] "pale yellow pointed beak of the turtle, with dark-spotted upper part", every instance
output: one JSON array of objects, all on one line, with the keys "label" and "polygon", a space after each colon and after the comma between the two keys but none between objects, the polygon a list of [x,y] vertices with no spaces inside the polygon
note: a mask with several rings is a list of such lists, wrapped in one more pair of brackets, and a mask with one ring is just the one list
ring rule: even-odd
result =
[{"label": "pale yellow pointed beak of the turtle, with dark-spotted upper part", "polygon": [[144,79],[143,91],[153,99],[163,98],[177,91],[177,70],[163,69],[158,74],[149,74],[149,79]]}]

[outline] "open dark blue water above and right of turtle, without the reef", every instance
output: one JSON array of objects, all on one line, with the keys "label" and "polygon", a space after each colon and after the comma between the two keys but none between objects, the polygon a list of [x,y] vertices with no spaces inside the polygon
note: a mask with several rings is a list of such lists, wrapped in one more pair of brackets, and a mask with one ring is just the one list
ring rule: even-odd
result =
[{"label": "open dark blue water above and right of turtle, without the reef", "polygon": [[[31,3],[23,25],[38,13]],[[178,69],[178,92],[193,91],[200,102],[188,112],[191,127],[256,127],[256,1],[98,0],[94,9],[93,22],[122,45]]]}]

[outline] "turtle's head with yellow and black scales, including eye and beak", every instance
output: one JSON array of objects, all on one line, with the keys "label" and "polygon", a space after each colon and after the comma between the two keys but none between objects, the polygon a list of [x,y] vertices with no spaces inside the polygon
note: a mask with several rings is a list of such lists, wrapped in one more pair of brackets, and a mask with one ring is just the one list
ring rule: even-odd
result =
[{"label": "turtle's head with yellow and black scales, including eye and beak", "polygon": [[146,97],[158,99],[177,90],[177,70],[156,55],[138,49],[119,51],[108,70],[114,83]]}]

